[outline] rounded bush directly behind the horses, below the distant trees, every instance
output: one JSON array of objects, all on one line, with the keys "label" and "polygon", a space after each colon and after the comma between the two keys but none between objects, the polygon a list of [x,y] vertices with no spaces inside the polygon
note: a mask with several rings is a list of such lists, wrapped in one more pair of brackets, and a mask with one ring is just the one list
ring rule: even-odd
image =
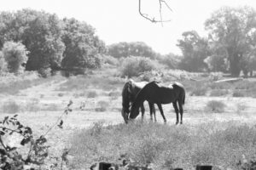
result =
[{"label": "rounded bush directly behind the horses, below the distant trees", "polygon": [[154,69],[154,63],[151,59],[145,57],[127,57],[122,61],[121,76],[138,77],[141,73],[153,71]]}]

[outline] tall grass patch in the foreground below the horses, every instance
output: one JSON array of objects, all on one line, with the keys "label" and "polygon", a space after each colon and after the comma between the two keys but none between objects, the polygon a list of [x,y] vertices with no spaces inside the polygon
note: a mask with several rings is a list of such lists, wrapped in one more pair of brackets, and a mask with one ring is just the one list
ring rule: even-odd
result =
[{"label": "tall grass patch in the foreground below the horses", "polygon": [[[253,156],[256,128],[232,122],[209,122],[196,127],[134,122],[103,126],[96,123],[71,139],[72,167],[93,161],[117,161],[127,155],[134,163],[153,163],[154,169],[212,164],[236,169],[242,155]],[[224,125],[224,126],[223,126]]]}]

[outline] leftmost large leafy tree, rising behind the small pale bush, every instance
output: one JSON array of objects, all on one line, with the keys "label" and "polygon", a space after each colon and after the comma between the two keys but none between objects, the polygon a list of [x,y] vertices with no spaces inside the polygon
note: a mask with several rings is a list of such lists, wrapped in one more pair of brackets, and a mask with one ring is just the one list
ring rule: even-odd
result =
[{"label": "leftmost large leafy tree, rising behind the small pale bush", "polygon": [[61,42],[61,22],[55,14],[22,9],[16,13],[0,14],[0,44],[20,41],[30,52],[27,71],[38,71],[60,65],[64,44]]}]

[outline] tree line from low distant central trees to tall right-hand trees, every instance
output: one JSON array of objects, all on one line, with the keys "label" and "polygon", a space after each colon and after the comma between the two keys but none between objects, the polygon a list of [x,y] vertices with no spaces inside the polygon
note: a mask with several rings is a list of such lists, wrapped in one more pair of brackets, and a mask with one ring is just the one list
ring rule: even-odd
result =
[{"label": "tree line from low distant central trees to tall right-hand trees", "polygon": [[[205,21],[208,37],[184,31],[177,40],[182,55],[155,53],[138,42],[119,42],[109,47],[114,57],[140,55],[158,59],[170,68],[185,71],[222,71],[237,77],[256,70],[256,12],[250,7],[223,7]],[[136,48],[134,48],[136,47]]]}]

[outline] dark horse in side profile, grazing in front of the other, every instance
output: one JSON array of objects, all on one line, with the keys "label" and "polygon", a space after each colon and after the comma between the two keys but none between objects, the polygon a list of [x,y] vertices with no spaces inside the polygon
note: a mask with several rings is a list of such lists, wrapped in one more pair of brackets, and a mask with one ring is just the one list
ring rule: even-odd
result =
[{"label": "dark horse in side profile, grazing in front of the other", "polygon": [[166,122],[161,104],[172,103],[177,116],[178,123],[178,108],[181,116],[180,123],[183,123],[183,105],[185,103],[185,90],[183,85],[179,82],[174,82],[170,86],[160,85],[159,82],[149,82],[144,88],[137,94],[137,97],[131,105],[131,114],[129,119],[135,119],[138,116],[138,108],[143,101],[148,100],[149,103],[158,105],[161,115]]}]

